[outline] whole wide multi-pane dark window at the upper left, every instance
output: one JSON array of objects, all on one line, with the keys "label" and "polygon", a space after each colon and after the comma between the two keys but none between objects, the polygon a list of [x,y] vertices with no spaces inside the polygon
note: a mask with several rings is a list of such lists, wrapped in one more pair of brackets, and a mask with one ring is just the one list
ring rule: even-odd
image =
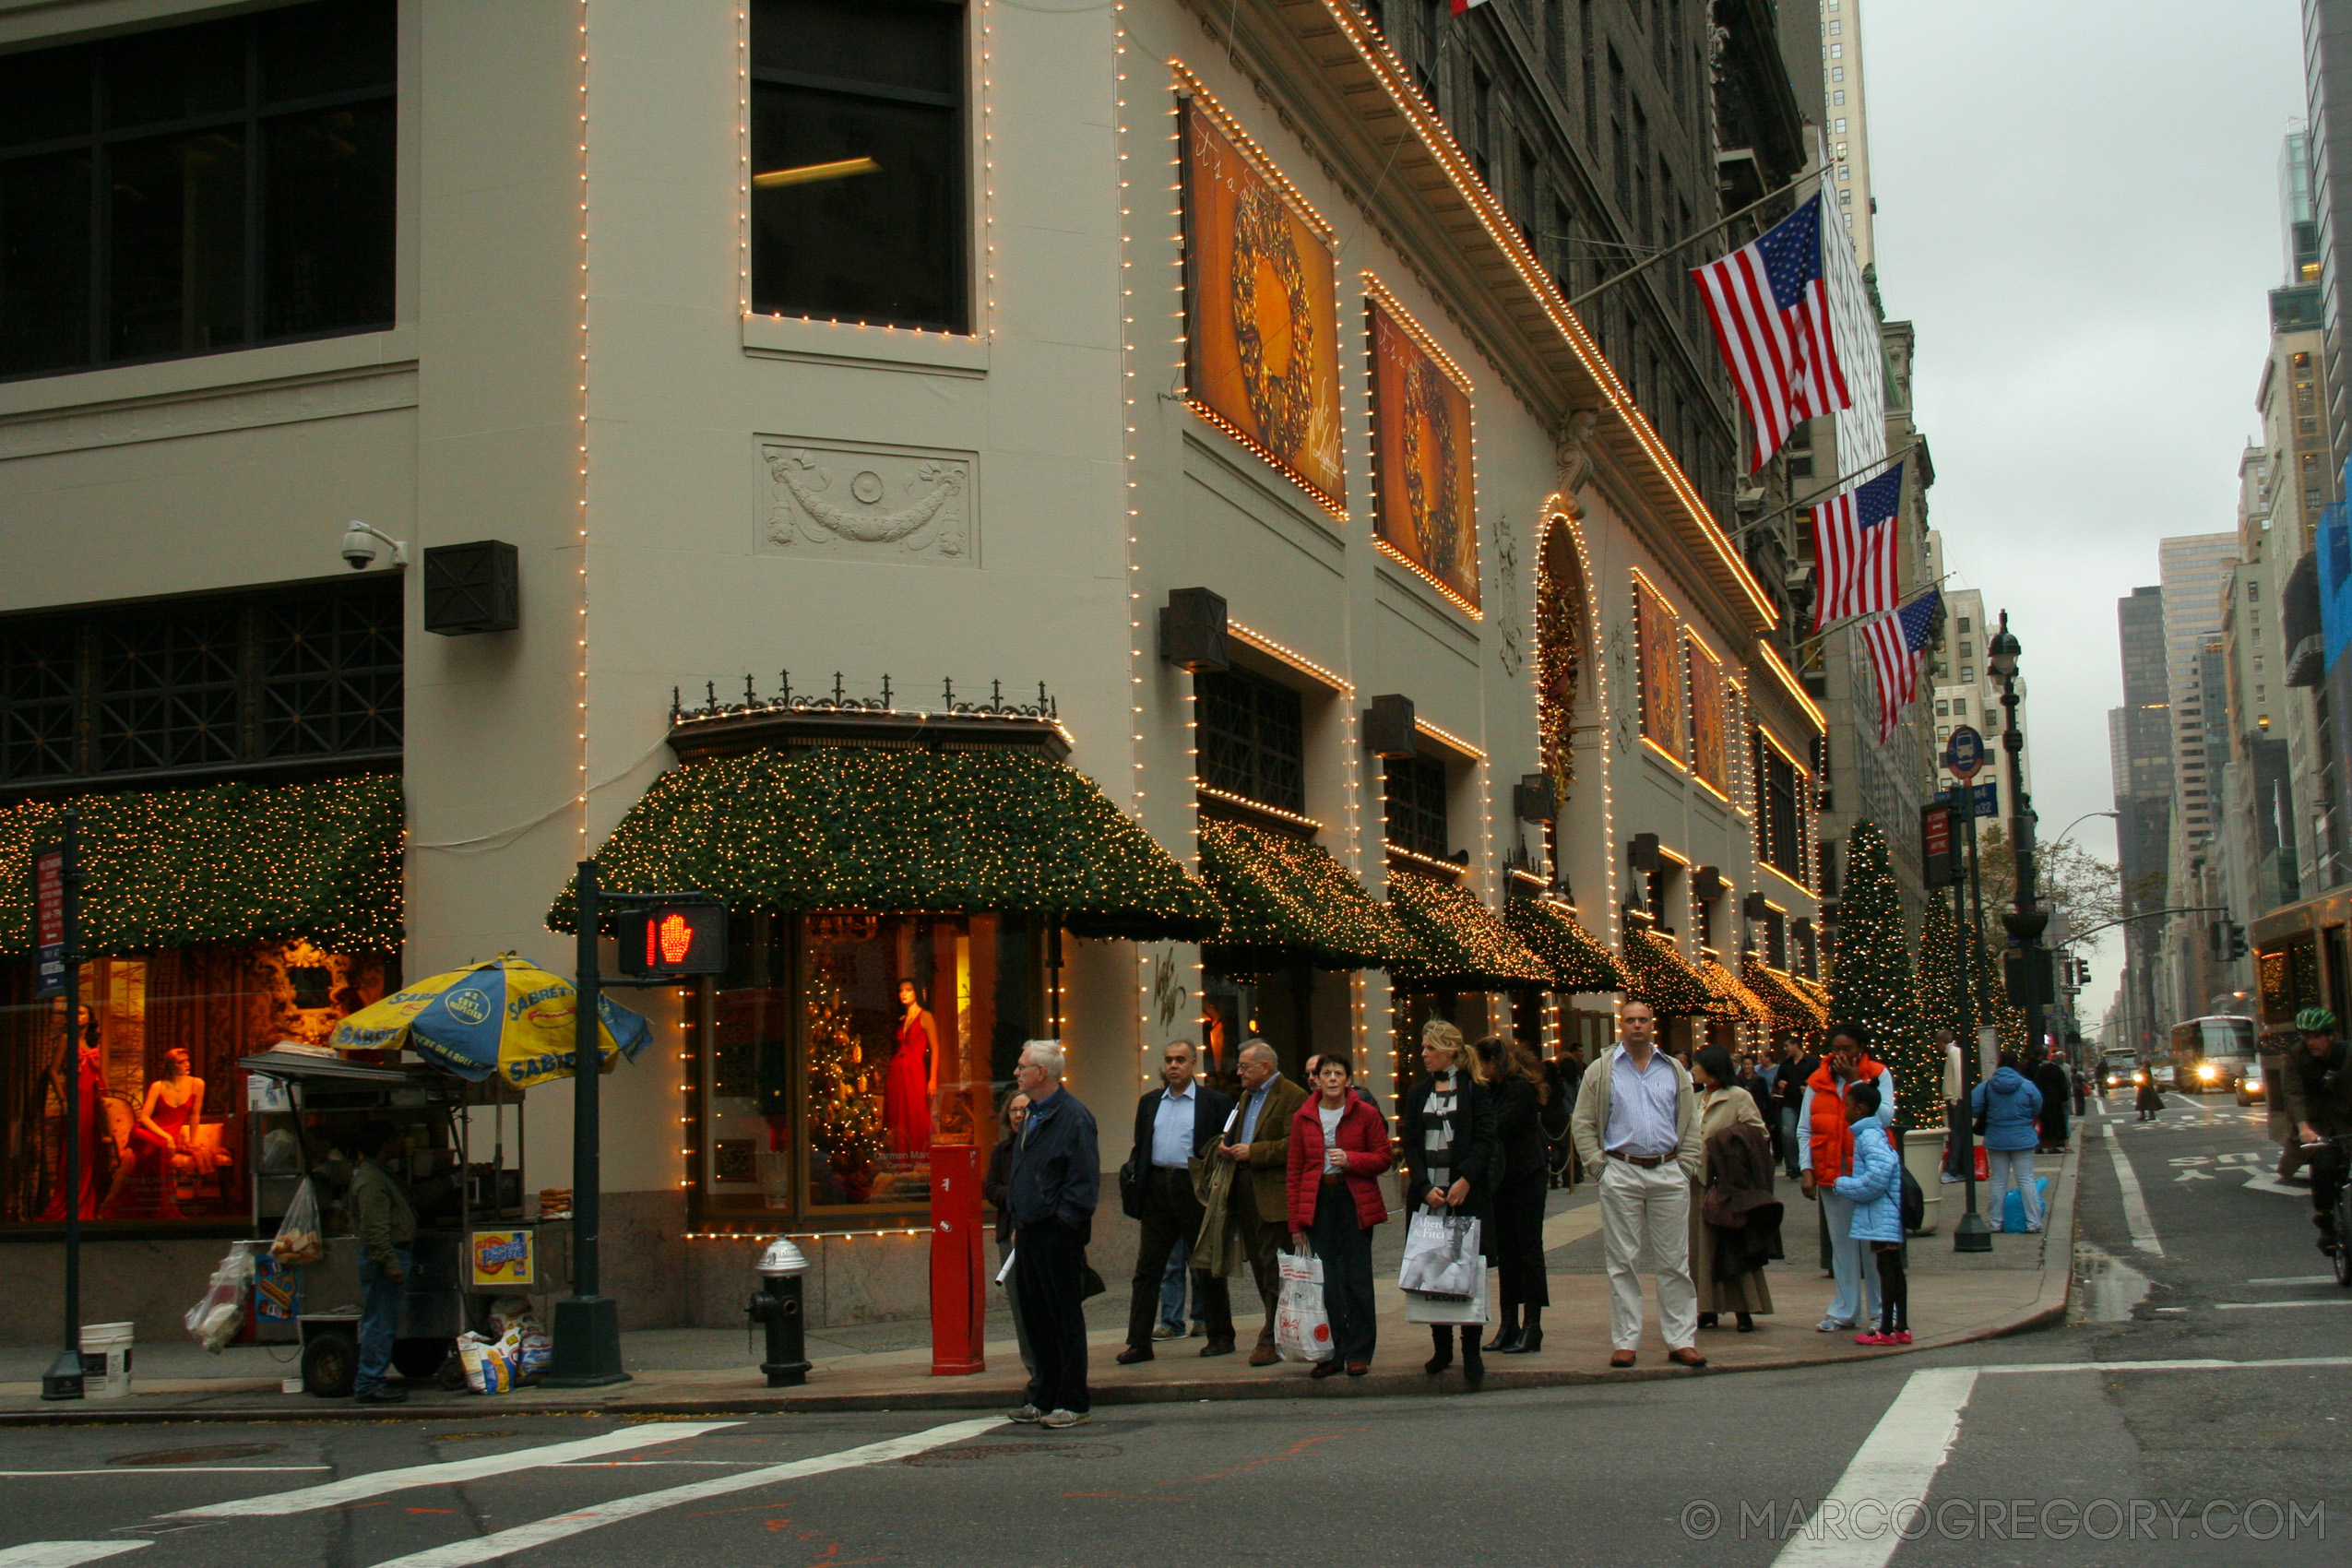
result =
[{"label": "whole wide multi-pane dark window at the upper left", "polygon": [[393,324],[393,0],[0,56],[0,376]]}]

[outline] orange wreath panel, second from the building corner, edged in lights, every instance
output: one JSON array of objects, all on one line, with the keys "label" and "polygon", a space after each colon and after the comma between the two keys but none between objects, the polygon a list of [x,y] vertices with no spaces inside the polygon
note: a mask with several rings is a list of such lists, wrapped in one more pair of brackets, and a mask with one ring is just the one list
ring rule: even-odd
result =
[{"label": "orange wreath panel, second from the building corner, edged in lights", "polygon": [[1477,616],[1470,388],[1421,327],[1371,287],[1374,534],[1383,550]]}]

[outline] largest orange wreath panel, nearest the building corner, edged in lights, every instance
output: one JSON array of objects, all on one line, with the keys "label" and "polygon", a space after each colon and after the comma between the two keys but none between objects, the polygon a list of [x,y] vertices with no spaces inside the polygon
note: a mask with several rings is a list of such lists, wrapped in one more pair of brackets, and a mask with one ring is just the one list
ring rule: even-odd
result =
[{"label": "largest orange wreath panel, nearest the building corner, edged in lights", "polygon": [[1345,515],[1331,228],[1207,94],[1178,118],[1188,400]]}]

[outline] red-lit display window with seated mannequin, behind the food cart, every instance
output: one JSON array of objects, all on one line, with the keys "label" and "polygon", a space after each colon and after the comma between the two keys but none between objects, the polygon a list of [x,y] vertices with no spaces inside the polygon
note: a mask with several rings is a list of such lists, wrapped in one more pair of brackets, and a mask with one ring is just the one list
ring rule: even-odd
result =
[{"label": "red-lit display window with seated mannequin, behind the food cart", "polygon": [[[158,947],[82,964],[80,1145],[85,1220],[249,1220],[240,1056],[322,1046],[397,987],[390,954],[306,940]],[[0,999],[0,1225],[66,1218],[66,1004],[5,966]]]}]

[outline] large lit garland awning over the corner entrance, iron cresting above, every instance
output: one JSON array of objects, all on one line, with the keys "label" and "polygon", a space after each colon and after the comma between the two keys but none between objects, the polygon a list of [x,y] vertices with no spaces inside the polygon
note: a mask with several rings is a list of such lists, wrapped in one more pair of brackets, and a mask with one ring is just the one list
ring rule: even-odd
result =
[{"label": "large lit garland awning over the corner entrance, iron cresting above", "polygon": [[[1094,780],[1023,750],[828,745],[684,762],[597,851],[602,886],[739,910],[1054,914],[1080,936],[1200,940],[1223,910]],[[572,931],[572,884],[548,910]]]}]

